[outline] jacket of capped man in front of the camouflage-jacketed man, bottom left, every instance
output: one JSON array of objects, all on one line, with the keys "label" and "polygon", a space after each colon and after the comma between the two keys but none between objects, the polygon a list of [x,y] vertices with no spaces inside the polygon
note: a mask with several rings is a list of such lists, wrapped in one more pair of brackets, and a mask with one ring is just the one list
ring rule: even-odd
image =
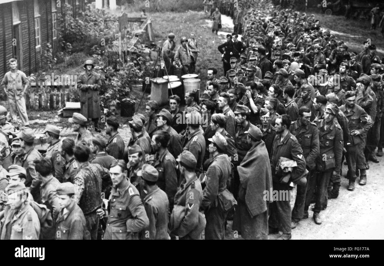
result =
[{"label": "jacket of capped man in front of the camouflage-jacketed man, bottom left", "polygon": [[56,220],[56,240],[83,240],[91,239],[86,227],[83,211],[76,202],[68,206],[68,212],[63,214],[62,209]]}]

